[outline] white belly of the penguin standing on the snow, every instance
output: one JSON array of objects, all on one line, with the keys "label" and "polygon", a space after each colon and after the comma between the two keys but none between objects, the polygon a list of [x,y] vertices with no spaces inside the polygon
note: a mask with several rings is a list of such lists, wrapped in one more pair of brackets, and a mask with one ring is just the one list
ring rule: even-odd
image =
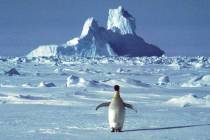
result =
[{"label": "white belly of the penguin standing on the snow", "polygon": [[125,118],[125,108],[124,105],[112,104],[109,106],[109,125],[110,128],[123,128]]}]

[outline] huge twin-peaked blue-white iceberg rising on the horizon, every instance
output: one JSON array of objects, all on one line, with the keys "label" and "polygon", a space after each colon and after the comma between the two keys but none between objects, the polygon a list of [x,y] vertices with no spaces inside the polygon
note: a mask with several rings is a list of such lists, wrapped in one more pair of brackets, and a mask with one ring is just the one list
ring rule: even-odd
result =
[{"label": "huge twin-peaked blue-white iceberg rising on the horizon", "polygon": [[136,35],[135,28],[135,18],[119,6],[109,10],[107,29],[90,17],[85,21],[79,37],[73,37],[64,44],[39,46],[27,57],[136,57],[164,54],[160,48]]}]

